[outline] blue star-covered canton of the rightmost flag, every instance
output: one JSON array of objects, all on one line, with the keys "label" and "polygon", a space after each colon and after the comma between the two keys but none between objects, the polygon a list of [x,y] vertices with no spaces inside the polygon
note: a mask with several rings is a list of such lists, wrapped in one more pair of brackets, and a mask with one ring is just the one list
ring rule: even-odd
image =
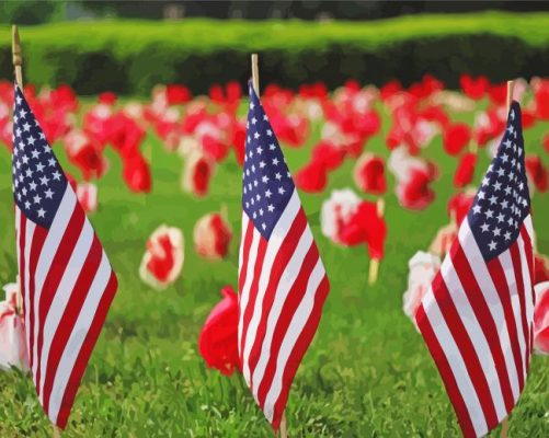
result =
[{"label": "blue star-covered canton of the rightmost flag", "polygon": [[468,214],[470,228],[487,262],[515,242],[530,210],[521,118],[521,106],[513,102],[497,153]]}]

